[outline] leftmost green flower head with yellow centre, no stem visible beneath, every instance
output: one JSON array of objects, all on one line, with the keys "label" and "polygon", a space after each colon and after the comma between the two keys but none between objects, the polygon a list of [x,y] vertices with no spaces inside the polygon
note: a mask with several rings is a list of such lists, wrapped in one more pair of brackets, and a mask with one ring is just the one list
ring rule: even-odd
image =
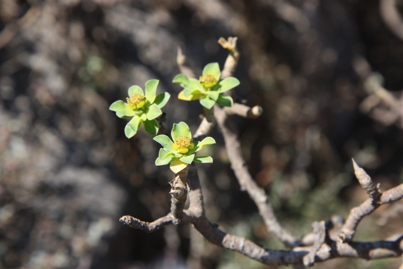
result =
[{"label": "leftmost green flower head with yellow centre, no stem visible beneath", "polygon": [[147,133],[157,134],[158,122],[155,118],[162,114],[161,107],[167,103],[171,96],[167,92],[156,96],[158,82],[157,79],[146,82],[146,95],[144,95],[142,88],[133,85],[128,89],[129,97],[126,98],[126,102],[118,100],[109,106],[111,111],[116,112],[117,117],[131,118],[124,127],[124,134],[127,138],[139,131],[142,122]]}]

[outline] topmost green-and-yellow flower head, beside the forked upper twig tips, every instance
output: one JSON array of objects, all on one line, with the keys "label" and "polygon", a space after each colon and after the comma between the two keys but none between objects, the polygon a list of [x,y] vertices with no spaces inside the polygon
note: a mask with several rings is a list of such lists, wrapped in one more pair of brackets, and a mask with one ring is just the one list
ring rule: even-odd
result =
[{"label": "topmost green-and-yellow flower head, beside the forked upper twig tips", "polygon": [[239,85],[239,80],[228,77],[220,80],[221,71],[218,63],[210,63],[203,69],[199,80],[188,78],[184,74],[176,75],[172,82],[179,83],[184,89],[179,92],[181,100],[200,99],[200,104],[211,109],[215,103],[221,106],[232,106],[231,96],[222,94]]}]

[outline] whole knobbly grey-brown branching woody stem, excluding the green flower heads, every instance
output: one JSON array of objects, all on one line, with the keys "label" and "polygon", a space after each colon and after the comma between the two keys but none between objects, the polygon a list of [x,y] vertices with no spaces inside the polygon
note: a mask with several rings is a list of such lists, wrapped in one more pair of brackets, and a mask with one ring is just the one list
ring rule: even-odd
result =
[{"label": "whole knobbly grey-brown branching woody stem, excluding the green flower heads", "polygon": [[[228,41],[220,39],[219,42],[226,47],[229,46],[231,42],[232,44],[236,44],[236,38],[229,38]],[[230,52],[228,59],[233,59],[227,59],[226,61],[224,69],[227,73],[225,76],[231,76],[237,65],[239,53],[235,45],[232,48],[231,46],[226,48],[229,49]],[[185,63],[186,58],[182,55],[181,50],[178,49],[178,65],[181,72],[187,72],[188,76],[194,76],[191,69],[187,69],[188,67]],[[286,231],[278,222],[266,194],[257,186],[245,166],[245,160],[240,150],[240,142],[230,119],[230,116],[234,114],[249,119],[257,118],[261,114],[261,107],[248,107],[242,104],[234,104],[233,107],[221,109],[216,105],[214,107],[214,114],[213,110],[205,111],[205,119],[201,122],[196,132],[197,136],[206,136],[212,130],[217,120],[223,133],[232,169],[234,170],[241,189],[246,190],[255,202],[267,230],[280,239],[286,246],[292,247],[291,250],[270,250],[263,248],[243,237],[227,234],[219,229],[218,225],[211,223],[205,214],[203,193],[201,192],[196,168],[193,165],[190,165],[188,171],[183,172],[183,175],[176,175],[175,179],[170,182],[172,186],[170,192],[172,195],[170,213],[151,223],[143,222],[131,216],[123,216],[120,218],[120,222],[131,228],[140,229],[148,233],[167,225],[191,223],[200,234],[213,244],[225,249],[240,252],[249,258],[269,265],[304,264],[305,266],[311,266],[315,262],[337,257],[378,259],[402,255],[403,235],[398,235],[393,240],[381,240],[376,242],[352,241],[358,223],[365,216],[372,213],[380,205],[399,200],[403,197],[403,184],[381,193],[379,187],[374,185],[371,178],[354,160],[353,166],[356,177],[370,198],[350,211],[346,223],[340,229],[338,238],[335,240],[331,239],[329,231],[332,228],[342,226],[343,221],[340,220],[340,218],[334,218],[334,220],[332,219],[326,223],[324,221],[313,223],[313,233],[304,236],[302,240],[296,239]],[[214,120],[214,123],[212,123],[212,121],[208,122],[206,120],[207,116],[213,117],[210,118],[210,120]],[[209,128],[201,128],[204,124],[209,124]],[[190,186],[192,186],[192,192],[189,193],[187,193],[186,189],[187,181],[189,181]],[[183,210],[187,194],[189,196],[189,207]]]}]

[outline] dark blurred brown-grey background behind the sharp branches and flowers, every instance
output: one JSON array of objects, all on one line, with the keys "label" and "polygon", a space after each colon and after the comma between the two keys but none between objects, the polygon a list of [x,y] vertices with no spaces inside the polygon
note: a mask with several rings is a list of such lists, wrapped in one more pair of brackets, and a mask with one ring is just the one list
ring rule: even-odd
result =
[{"label": "dark blurred brown-grey background behind the sharp branches and flowers", "polygon": [[[146,234],[118,221],[164,216],[173,174],[154,166],[159,145],[148,134],[124,136],[126,121],[109,105],[159,79],[157,92],[172,95],[167,128],[186,121],[194,132],[202,109],[176,99],[171,83],[177,47],[199,74],[210,62],[223,67],[221,36],[239,38],[237,101],[264,110],[257,120],[234,117],[244,157],[287,229],[301,237],[367,198],[351,157],[382,190],[402,183],[402,11],[394,0],[1,0],[0,267],[267,268],[189,225]],[[366,86],[371,72],[394,102]],[[198,167],[208,217],[284,249],[240,191],[221,134],[212,136],[215,162]],[[381,207],[356,239],[401,233],[402,211],[402,202]]]}]

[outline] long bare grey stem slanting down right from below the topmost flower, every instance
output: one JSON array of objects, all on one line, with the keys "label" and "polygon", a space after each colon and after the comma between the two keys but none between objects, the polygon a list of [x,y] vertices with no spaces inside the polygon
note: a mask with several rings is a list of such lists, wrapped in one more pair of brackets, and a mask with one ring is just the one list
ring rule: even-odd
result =
[{"label": "long bare grey stem slanting down right from below the topmost flower", "polygon": [[277,221],[273,207],[268,201],[267,195],[257,186],[246,168],[242,157],[241,145],[230,118],[219,107],[215,107],[217,123],[223,133],[225,147],[231,162],[232,169],[242,190],[246,190],[259,209],[260,216],[269,232],[273,233],[286,246],[295,246],[298,240],[286,231]]}]

